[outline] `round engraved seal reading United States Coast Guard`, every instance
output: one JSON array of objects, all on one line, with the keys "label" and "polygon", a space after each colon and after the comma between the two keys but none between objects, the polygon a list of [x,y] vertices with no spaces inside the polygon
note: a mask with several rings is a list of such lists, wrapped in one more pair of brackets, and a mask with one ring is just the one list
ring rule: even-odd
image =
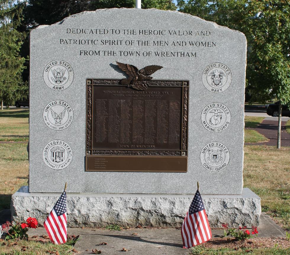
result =
[{"label": "round engraved seal reading United States Coast Guard", "polygon": [[223,170],[230,161],[228,148],[220,142],[211,142],[200,153],[202,166],[212,172]]}]

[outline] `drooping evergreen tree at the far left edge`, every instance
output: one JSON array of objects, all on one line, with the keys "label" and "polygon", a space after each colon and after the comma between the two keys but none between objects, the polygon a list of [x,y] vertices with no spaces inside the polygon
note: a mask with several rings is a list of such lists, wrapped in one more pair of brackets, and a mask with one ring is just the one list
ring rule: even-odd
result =
[{"label": "drooping evergreen tree at the far left edge", "polygon": [[25,86],[22,85],[21,73],[25,58],[19,51],[23,34],[16,30],[21,21],[21,4],[11,0],[0,0],[0,99],[9,107],[22,96]]}]

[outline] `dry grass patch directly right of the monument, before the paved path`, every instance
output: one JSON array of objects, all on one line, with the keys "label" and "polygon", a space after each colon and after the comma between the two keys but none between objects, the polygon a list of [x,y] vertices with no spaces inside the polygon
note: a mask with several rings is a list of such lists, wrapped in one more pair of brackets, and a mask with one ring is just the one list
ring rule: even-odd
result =
[{"label": "dry grass patch directly right of the monument, before the paved path", "polygon": [[290,230],[290,147],[244,147],[244,187],[261,197],[262,211]]}]

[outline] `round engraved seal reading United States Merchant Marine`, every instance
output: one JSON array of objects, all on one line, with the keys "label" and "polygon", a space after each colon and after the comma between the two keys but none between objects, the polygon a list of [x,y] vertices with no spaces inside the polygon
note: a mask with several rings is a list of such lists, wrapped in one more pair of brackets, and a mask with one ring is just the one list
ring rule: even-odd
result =
[{"label": "round engraved seal reading United States Merchant Marine", "polygon": [[43,149],[43,160],[51,169],[62,170],[72,161],[72,149],[62,140],[53,140]]}]

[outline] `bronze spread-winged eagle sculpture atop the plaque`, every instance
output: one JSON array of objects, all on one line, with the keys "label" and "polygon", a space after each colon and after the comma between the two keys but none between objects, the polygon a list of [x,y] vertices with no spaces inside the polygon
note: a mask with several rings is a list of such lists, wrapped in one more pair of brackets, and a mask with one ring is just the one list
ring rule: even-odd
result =
[{"label": "bronze spread-winged eagle sculpture atop the plaque", "polygon": [[128,78],[122,79],[120,83],[128,85],[128,87],[132,87],[136,90],[145,90],[148,87],[146,81],[152,80],[150,75],[163,68],[159,65],[149,65],[138,70],[136,66],[130,64],[123,64],[120,62],[117,62],[117,64],[118,67],[129,76]]}]

